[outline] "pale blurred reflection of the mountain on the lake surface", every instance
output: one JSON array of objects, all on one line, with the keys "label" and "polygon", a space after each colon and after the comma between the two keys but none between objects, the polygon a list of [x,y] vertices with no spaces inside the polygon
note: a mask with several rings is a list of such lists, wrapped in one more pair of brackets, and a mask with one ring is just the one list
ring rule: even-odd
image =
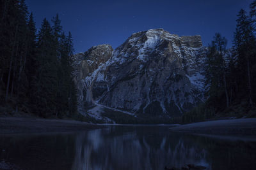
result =
[{"label": "pale blurred reflection of the mountain on the lake surface", "polygon": [[127,127],[111,127],[79,134],[72,169],[164,169],[189,163],[211,169],[204,148],[158,130],[133,127],[127,132]]}]

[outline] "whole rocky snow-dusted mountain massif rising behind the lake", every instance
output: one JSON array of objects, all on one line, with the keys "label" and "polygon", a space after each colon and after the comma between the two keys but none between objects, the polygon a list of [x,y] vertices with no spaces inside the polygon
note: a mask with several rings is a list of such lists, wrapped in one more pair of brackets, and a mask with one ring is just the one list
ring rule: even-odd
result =
[{"label": "whole rocky snow-dusted mountain massif rising behind the lake", "polygon": [[205,53],[200,36],[163,29],[134,33],[116,50],[93,46],[75,55],[79,106],[180,115],[204,101]]}]

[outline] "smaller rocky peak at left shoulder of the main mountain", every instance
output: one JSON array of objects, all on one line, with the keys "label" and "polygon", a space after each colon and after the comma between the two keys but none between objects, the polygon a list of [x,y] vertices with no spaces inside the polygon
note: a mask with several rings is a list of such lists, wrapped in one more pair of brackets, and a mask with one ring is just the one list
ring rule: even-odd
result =
[{"label": "smaller rocky peak at left shoulder of the main mountain", "polygon": [[85,53],[74,55],[74,80],[78,90],[79,106],[86,107],[94,103],[92,88],[100,79],[99,70],[111,58],[112,52],[113,48],[110,45],[98,45]]}]

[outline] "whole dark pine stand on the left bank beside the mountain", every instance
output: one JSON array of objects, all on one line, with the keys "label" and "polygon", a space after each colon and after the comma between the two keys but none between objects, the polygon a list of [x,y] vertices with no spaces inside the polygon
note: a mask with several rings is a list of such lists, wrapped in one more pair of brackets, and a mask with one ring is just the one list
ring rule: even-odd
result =
[{"label": "whole dark pine stand on the left bank beside the mountain", "polygon": [[24,0],[0,2],[0,105],[40,117],[74,116],[71,33],[58,14],[36,31]]}]

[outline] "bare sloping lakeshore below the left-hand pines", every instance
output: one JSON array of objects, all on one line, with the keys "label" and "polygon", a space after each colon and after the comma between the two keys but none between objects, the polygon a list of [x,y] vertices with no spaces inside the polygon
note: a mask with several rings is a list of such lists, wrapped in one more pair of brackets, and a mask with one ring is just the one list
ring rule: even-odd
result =
[{"label": "bare sloping lakeshore below the left-hand pines", "polygon": [[49,120],[43,118],[0,118],[0,134],[72,132],[99,128],[74,120]]}]

